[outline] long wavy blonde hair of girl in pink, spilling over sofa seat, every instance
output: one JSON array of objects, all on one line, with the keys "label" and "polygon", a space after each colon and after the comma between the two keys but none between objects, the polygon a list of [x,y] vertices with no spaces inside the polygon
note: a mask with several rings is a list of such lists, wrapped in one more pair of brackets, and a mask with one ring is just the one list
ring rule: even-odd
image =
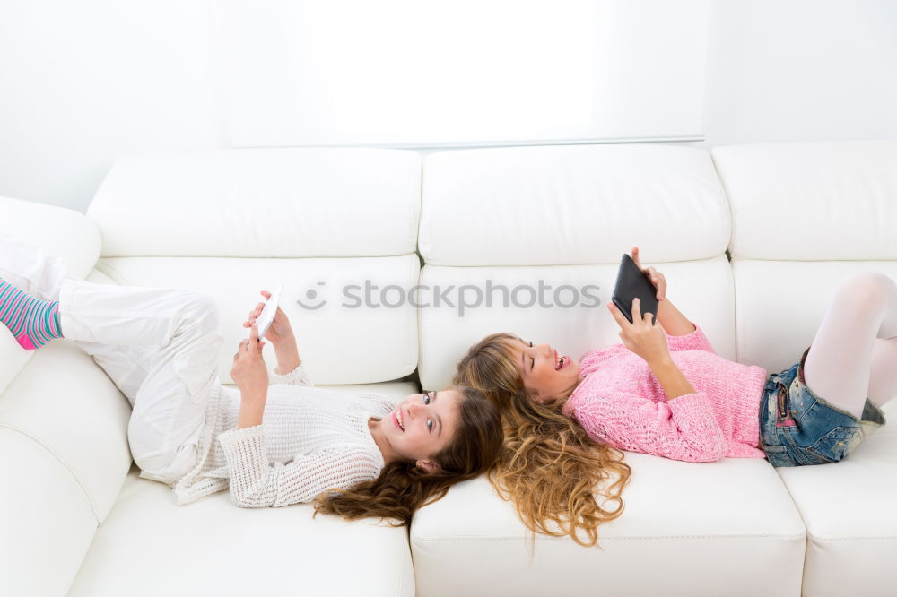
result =
[{"label": "long wavy blonde hair of girl in pink, spilling over sofa seat", "polygon": [[489,479],[530,531],[596,545],[598,526],[623,514],[631,469],[620,450],[592,441],[563,416],[562,403],[533,400],[510,347],[517,340],[493,333],[457,364],[455,383],[483,391],[501,411],[505,442]]}]

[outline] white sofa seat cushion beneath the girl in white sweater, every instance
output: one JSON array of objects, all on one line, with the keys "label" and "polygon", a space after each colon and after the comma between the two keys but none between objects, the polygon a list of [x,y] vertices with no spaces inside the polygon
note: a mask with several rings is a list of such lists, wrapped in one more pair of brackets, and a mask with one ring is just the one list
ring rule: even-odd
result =
[{"label": "white sofa seat cushion beneath the girl in white sweater", "polygon": [[[328,387],[396,402],[415,391],[407,382]],[[312,512],[238,508],[227,492],[176,506],[167,486],[132,467],[68,594],[414,594],[404,528]]]}]

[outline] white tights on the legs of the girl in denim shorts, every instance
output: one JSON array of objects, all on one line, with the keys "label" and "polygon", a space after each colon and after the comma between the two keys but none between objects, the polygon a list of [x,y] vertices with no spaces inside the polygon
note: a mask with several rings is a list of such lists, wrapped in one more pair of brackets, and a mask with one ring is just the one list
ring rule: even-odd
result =
[{"label": "white tights on the legs of the girl in denim shorts", "polygon": [[897,284],[883,273],[852,276],[835,293],[804,361],[814,394],[860,417],[868,397],[897,395]]}]

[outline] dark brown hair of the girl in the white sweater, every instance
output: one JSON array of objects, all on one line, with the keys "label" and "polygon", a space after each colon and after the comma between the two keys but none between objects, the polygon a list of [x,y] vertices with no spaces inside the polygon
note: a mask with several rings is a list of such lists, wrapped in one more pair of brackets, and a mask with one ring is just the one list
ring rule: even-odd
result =
[{"label": "dark brown hair of the girl in the white sweater", "polygon": [[457,385],[460,392],[455,437],[432,457],[440,470],[426,472],[414,461],[388,463],[375,480],[362,481],[349,489],[334,489],[315,499],[318,512],[359,518],[394,519],[392,526],[411,524],[414,511],[445,497],[448,488],[488,471],[501,451],[501,415],[483,393]]}]

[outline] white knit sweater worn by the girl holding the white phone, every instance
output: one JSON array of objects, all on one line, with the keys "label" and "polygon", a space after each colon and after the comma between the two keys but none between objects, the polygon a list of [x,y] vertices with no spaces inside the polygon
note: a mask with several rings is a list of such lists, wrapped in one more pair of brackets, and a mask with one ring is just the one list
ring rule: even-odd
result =
[{"label": "white knit sweater worn by the girl holding the white phone", "polygon": [[230,487],[236,506],[289,506],[377,478],[383,455],[368,420],[387,415],[393,402],[313,387],[301,365],[271,381],[263,423],[243,429],[239,390],[215,385],[199,461],[174,484],[177,504]]}]

